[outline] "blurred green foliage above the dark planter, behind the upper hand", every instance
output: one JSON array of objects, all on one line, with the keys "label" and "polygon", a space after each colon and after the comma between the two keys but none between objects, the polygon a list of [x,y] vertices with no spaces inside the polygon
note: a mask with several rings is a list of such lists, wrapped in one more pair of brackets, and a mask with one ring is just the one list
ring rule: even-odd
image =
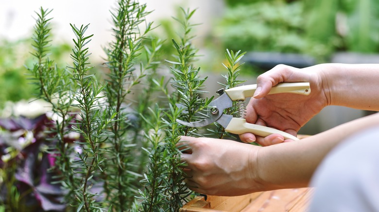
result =
[{"label": "blurred green foliage above the dark planter, behind the upper hand", "polygon": [[226,0],[214,37],[242,51],[308,54],[379,50],[378,0]]}]

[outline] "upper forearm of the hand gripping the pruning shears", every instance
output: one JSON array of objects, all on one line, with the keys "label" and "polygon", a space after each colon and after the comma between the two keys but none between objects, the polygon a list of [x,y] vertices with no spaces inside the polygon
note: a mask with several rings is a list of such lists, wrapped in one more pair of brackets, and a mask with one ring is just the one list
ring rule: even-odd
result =
[{"label": "upper forearm of the hand gripping the pruning shears", "polygon": [[379,64],[320,64],[329,105],[379,111]]}]

